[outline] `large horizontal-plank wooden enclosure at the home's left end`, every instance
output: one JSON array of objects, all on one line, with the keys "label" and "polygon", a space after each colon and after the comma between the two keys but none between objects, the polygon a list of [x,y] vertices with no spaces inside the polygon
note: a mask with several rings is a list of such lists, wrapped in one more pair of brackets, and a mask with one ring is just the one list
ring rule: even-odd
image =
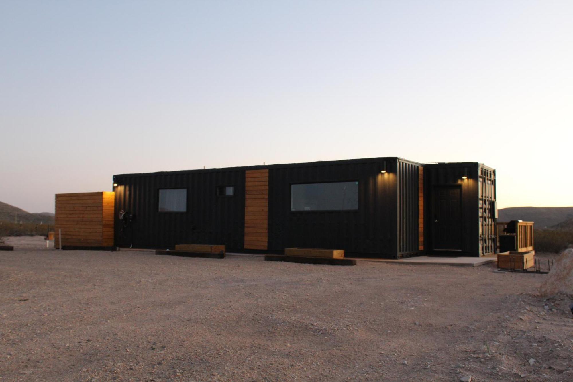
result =
[{"label": "large horizontal-plank wooden enclosure at the home's left end", "polygon": [[113,248],[113,192],[56,194],[54,247]]}]

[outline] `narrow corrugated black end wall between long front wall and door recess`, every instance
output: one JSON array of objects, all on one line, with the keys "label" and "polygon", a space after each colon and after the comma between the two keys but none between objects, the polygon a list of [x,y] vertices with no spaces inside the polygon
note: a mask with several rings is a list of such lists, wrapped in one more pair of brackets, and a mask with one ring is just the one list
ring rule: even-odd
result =
[{"label": "narrow corrugated black end wall between long front wall and door recess", "polygon": [[398,160],[398,257],[419,252],[418,163]]}]

